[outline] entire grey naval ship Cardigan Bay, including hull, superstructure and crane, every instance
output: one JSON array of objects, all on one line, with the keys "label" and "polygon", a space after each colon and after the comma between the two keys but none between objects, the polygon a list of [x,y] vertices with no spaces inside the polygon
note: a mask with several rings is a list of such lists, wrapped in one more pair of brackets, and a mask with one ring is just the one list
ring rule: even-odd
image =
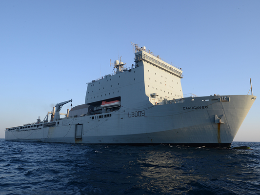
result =
[{"label": "entire grey naval ship Cardigan Bay, including hull, superstructure and crane", "polygon": [[88,82],[83,104],[62,114],[72,99],[57,103],[42,121],[6,128],[5,140],[230,147],[257,97],[183,94],[181,68],[131,44],[134,63],[110,60],[113,74]]}]

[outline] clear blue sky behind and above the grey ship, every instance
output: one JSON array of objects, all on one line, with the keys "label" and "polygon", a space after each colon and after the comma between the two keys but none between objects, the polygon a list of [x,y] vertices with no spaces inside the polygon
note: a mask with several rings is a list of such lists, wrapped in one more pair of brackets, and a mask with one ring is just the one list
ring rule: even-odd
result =
[{"label": "clear blue sky behind and above the grey ship", "polygon": [[[1,0],[0,138],[134,59],[130,41],[183,70],[184,94],[260,91],[259,0]],[[64,105],[61,112],[71,108]],[[260,141],[259,99],[234,141]]]}]

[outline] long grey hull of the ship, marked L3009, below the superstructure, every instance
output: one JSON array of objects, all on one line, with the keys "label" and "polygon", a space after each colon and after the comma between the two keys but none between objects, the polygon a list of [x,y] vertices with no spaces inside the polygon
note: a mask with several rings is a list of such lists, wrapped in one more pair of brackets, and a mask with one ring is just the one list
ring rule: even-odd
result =
[{"label": "long grey hull of the ship, marked L3009, below the superstructure", "polygon": [[47,122],[38,128],[7,129],[5,139],[228,147],[255,99],[255,96],[244,95],[191,97],[163,105],[153,105],[147,100],[142,102],[145,107],[124,108],[122,105],[111,116],[101,113],[64,118],[55,124]]}]

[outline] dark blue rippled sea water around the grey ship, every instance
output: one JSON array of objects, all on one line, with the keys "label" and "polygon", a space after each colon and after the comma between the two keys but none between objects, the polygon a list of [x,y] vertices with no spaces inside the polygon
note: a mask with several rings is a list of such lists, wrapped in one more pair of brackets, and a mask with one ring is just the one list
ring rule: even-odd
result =
[{"label": "dark blue rippled sea water around the grey ship", "polygon": [[117,146],[0,139],[0,195],[257,195],[252,150]]}]

